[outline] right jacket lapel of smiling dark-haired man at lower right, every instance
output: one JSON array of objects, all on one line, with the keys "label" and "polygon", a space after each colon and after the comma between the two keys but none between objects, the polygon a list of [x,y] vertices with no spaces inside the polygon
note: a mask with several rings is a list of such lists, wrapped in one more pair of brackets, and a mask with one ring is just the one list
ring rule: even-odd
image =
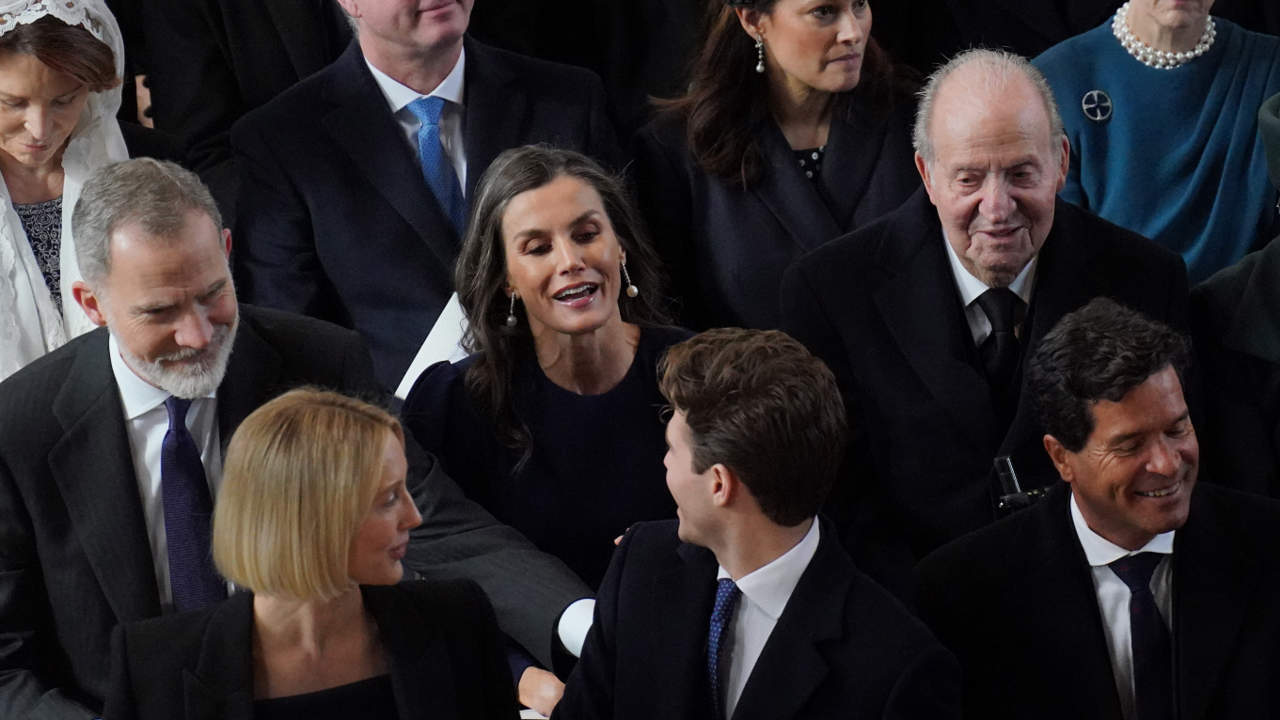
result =
[{"label": "right jacket lapel of smiling dark-haired man at lower right", "polygon": [[1208,720],[1224,667],[1236,647],[1258,579],[1261,555],[1230,552],[1233,519],[1192,498],[1187,524],[1174,541],[1174,684],[1181,720]]}]

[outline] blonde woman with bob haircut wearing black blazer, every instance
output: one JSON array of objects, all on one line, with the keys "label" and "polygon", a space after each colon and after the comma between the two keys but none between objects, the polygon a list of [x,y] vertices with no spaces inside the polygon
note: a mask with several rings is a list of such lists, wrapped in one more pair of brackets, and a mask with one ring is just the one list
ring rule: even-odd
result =
[{"label": "blonde woman with bob haircut wearing black blazer", "polygon": [[470,580],[406,582],[421,524],[384,410],[302,388],[227,448],[219,571],[250,592],[116,628],[105,717],[513,717],[493,610]]}]

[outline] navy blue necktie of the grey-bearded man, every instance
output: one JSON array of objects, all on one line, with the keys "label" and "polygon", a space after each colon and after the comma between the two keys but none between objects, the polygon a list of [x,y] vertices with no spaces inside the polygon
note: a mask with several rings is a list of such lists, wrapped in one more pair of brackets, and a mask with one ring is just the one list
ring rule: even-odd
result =
[{"label": "navy blue necktie of the grey-bearded man", "polygon": [[189,400],[169,397],[169,430],[160,446],[160,497],[169,546],[169,588],[179,612],[200,610],[227,597],[209,550],[214,503],[200,448],[187,430]]}]

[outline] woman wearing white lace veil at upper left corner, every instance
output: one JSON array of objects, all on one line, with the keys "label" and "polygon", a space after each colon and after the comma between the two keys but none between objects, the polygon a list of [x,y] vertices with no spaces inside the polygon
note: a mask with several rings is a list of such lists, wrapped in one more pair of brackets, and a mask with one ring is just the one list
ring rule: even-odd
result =
[{"label": "woman wearing white lace veil at upper left corner", "polygon": [[93,327],[70,217],[84,178],[128,158],[123,67],[102,0],[0,0],[0,379]]}]

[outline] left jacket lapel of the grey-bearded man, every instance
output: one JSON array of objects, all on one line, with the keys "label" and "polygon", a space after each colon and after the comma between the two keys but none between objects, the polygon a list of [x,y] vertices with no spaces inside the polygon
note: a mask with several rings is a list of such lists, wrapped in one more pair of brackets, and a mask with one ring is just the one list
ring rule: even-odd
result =
[{"label": "left jacket lapel of the grey-bearded man", "polygon": [[106,338],[90,337],[54,397],[64,433],[49,464],[102,593],[132,621],[160,614],[160,592]]}]

